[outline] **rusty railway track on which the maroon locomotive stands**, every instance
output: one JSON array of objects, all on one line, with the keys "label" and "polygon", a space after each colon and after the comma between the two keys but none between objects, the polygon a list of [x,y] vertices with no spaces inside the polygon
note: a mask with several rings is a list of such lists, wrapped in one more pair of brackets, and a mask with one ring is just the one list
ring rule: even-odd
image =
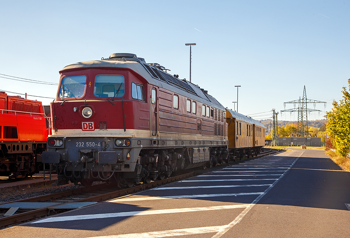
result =
[{"label": "rusty railway track on which the maroon locomotive stands", "polygon": [[[252,158],[263,157],[268,154],[272,154],[279,151],[277,149],[265,149],[265,150],[266,151],[260,153],[257,157],[252,157]],[[241,161],[247,161],[247,160],[241,160]],[[46,195],[41,195],[36,197],[30,197],[27,199],[12,201],[12,202],[0,203],[1,207],[6,207],[6,204],[9,204],[8,208],[12,206],[12,204],[10,203],[13,203],[13,204],[40,203],[40,205],[42,206],[41,208],[34,209],[34,210],[29,210],[28,208],[18,209],[16,210],[18,214],[0,218],[0,228],[4,228],[8,225],[18,225],[20,223],[33,221],[42,217],[56,215],[66,210],[76,209],[78,207],[75,206],[75,204],[78,204],[78,203],[87,204],[88,202],[90,202],[90,204],[93,204],[97,202],[102,202],[102,201],[114,199],[117,197],[129,195],[132,193],[136,193],[138,191],[142,191],[145,189],[150,189],[150,188],[165,185],[167,183],[172,183],[182,179],[190,178],[200,173],[201,171],[193,171],[190,173],[173,176],[167,179],[157,180],[151,183],[140,184],[132,188],[115,190],[115,188],[107,185],[106,183],[102,183],[91,187],[82,187],[82,188],[67,190],[64,192],[46,194]],[[65,206],[63,208],[59,208],[59,207],[57,208],[57,204],[52,205],[52,202],[65,204]],[[47,203],[47,205],[45,205],[45,203]]]}]

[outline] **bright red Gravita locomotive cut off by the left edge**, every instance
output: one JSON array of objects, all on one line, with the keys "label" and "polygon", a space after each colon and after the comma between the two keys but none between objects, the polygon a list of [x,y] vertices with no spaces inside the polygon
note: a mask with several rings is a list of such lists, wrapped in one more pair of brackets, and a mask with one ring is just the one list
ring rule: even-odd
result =
[{"label": "bright red Gravita locomotive cut off by the left edge", "polygon": [[0,176],[39,172],[49,132],[46,119],[41,102],[0,92]]}]

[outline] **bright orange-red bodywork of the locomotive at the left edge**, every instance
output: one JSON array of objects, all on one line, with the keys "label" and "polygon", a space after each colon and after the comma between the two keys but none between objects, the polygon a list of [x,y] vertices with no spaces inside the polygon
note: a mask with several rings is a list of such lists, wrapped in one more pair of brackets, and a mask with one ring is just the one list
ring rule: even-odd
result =
[{"label": "bright orange-red bodywork of the locomotive at the left edge", "polygon": [[[13,111],[26,111],[28,113],[15,113]],[[6,93],[0,92],[0,140],[3,142],[35,141],[46,143],[48,130],[45,117],[34,112],[43,113],[41,102],[7,96]],[[4,138],[6,137],[4,127],[15,127],[17,135],[13,137],[17,138]]]}]

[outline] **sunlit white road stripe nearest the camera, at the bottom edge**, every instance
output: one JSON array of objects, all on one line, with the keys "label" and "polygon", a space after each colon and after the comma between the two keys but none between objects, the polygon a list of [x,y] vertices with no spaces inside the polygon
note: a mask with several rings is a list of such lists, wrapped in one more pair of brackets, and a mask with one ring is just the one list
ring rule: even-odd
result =
[{"label": "sunlit white road stripe nearest the camera, at the bottom edge", "polygon": [[110,236],[94,236],[89,238],[160,238],[160,237],[174,237],[174,236],[186,236],[186,235],[196,235],[204,233],[219,232],[226,228],[224,226],[205,226],[187,229],[176,229],[167,231],[151,231],[142,233],[131,233],[123,235],[110,235]]}]

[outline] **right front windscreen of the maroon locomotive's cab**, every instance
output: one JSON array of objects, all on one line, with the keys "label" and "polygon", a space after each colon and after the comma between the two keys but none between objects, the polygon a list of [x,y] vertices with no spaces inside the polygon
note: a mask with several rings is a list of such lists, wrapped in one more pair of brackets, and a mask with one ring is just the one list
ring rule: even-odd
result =
[{"label": "right front windscreen of the maroon locomotive's cab", "polygon": [[95,77],[93,95],[100,98],[124,96],[124,76],[99,74]]}]

